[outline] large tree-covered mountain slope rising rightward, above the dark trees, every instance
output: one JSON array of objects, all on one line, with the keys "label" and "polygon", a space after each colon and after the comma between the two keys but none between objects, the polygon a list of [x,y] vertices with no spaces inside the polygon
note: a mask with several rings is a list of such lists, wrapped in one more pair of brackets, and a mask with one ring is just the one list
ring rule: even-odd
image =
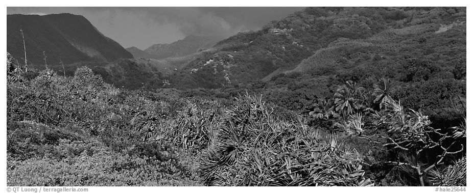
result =
[{"label": "large tree-covered mountain slope rising rightward, above the dark trees", "polygon": [[[261,30],[220,41],[176,72],[170,83],[182,89],[221,88],[308,74],[309,79],[335,77],[343,84],[370,74],[391,77],[393,70],[396,80],[407,81],[413,76],[406,75],[410,60],[451,63],[439,71],[429,69],[437,73],[465,59],[465,21],[464,8],[305,8]],[[353,76],[353,70],[363,77]]]}]

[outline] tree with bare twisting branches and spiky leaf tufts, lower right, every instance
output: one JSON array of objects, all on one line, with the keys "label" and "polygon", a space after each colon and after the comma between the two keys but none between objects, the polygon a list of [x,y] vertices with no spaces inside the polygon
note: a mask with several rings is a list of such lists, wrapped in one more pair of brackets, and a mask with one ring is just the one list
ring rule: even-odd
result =
[{"label": "tree with bare twisting branches and spiky leaf tufts, lower right", "polygon": [[[435,153],[435,160],[427,163],[409,160],[386,161],[384,164],[407,167],[416,171],[420,185],[425,185],[424,177],[429,172],[443,164],[447,155],[456,155],[464,150],[460,139],[466,137],[462,128],[448,128],[448,131],[435,129],[430,126],[431,121],[427,116],[412,109],[405,111],[398,101],[387,98],[382,103],[384,110],[371,114],[371,124],[377,129],[386,130],[373,135],[362,134],[362,139],[381,145],[389,151],[405,152],[419,159],[429,152]],[[378,139],[378,140],[374,140]]]}]

